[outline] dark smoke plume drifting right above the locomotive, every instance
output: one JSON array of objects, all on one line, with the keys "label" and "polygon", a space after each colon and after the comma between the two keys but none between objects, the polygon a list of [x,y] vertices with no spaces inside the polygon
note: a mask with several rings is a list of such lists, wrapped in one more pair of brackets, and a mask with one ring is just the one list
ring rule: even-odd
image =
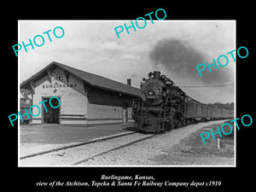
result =
[{"label": "dark smoke plume drifting right above the locomotive", "polygon": [[[210,46],[210,45],[209,45]],[[154,65],[162,65],[167,72],[164,74],[172,74],[172,77],[177,79],[185,79],[187,82],[196,82],[201,84],[225,84],[227,71],[223,68],[212,66],[212,73],[209,73],[206,67],[200,77],[196,66],[206,61],[209,65],[213,63],[212,58],[193,48],[188,43],[175,38],[162,39],[154,45],[154,48],[149,53],[150,59]],[[217,58],[214,58],[217,62]],[[172,79],[171,77],[171,79]],[[175,82],[175,79],[173,79]]]}]

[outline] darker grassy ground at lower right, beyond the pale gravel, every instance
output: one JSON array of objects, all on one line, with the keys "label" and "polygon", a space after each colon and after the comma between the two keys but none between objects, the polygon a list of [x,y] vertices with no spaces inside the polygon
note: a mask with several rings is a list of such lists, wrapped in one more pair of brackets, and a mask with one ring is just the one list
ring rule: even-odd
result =
[{"label": "darker grassy ground at lower right, beyond the pale gravel", "polygon": [[[227,165],[234,166],[234,135],[220,138],[220,148],[218,149],[217,139],[212,137],[206,140],[206,145],[202,143],[200,134],[204,131],[215,132],[215,124],[203,127],[195,131],[189,137],[183,138],[172,148],[165,149],[166,154],[155,156],[152,160],[160,165]],[[227,131],[228,132],[228,131]]]}]

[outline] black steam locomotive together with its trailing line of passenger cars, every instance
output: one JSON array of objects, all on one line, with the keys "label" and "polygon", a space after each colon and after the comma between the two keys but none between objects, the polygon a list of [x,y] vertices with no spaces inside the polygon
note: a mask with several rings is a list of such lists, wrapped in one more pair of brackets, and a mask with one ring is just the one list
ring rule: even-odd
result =
[{"label": "black steam locomotive together with its trailing line of passenger cars", "polygon": [[131,114],[138,131],[159,133],[198,121],[231,119],[234,110],[197,102],[166,75],[154,72],[143,78],[141,99],[133,100]]}]

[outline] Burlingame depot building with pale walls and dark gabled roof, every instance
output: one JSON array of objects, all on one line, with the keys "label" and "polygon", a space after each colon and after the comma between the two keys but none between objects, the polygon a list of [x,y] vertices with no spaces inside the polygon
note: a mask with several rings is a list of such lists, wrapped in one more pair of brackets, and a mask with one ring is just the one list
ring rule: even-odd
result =
[{"label": "Burlingame depot building with pale walls and dark gabled roof", "polygon": [[140,90],[131,86],[131,79],[122,84],[55,61],[21,83],[20,88],[31,90],[32,105],[52,96],[61,101],[60,108],[47,106],[48,111],[40,106],[42,113],[32,117],[35,124],[127,122],[131,120],[133,99],[140,97]]}]

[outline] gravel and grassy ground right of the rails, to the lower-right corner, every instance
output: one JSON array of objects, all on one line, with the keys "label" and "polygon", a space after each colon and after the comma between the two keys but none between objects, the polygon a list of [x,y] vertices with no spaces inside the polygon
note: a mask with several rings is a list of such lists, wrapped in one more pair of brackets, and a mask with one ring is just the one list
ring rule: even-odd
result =
[{"label": "gravel and grassy ground right of the rails, to the lower-right corner", "polygon": [[168,131],[140,143],[122,148],[81,164],[105,166],[235,166],[234,139],[207,139],[204,145],[200,134],[224,120],[209,121]]}]

